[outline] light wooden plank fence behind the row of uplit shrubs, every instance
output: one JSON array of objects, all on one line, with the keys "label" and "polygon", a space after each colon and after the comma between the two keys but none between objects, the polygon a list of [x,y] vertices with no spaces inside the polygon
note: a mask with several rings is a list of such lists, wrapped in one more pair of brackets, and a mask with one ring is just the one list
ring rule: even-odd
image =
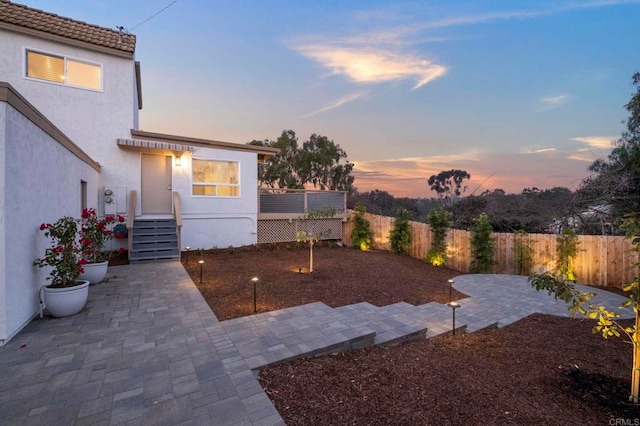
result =
[{"label": "light wooden plank fence behind the row of uplit shrubs", "polygon": [[[389,234],[394,218],[365,214],[373,231],[373,247],[377,250],[389,250]],[[424,259],[431,248],[431,228],[426,223],[409,222],[413,242],[409,254]],[[342,236],[346,244],[351,244],[351,220],[343,223]],[[556,235],[552,234],[505,234],[494,233],[496,243],[494,268],[496,274],[515,274],[518,272],[516,247],[531,247],[532,261],[528,271],[541,273],[553,270],[556,266]],[[625,237],[600,235],[579,235],[578,255],[573,261],[577,281],[593,286],[621,287],[633,281],[639,273],[638,253],[632,250],[631,241]],[[469,272],[471,264],[470,233],[458,229],[447,232],[446,266],[456,271]]]}]

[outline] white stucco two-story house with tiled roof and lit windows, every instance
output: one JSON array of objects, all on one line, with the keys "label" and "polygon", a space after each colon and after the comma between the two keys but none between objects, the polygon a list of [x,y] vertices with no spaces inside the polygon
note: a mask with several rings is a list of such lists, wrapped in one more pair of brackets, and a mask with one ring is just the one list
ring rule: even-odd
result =
[{"label": "white stucco two-story house with tiled roof and lit windows", "polygon": [[[135,46],[122,30],[0,0],[0,345],[38,312],[41,223],[84,207],[124,215],[139,260],[162,244],[175,258],[258,241],[257,163],[276,151],[141,131]],[[136,248],[151,246],[135,241],[144,220],[173,221],[173,242]]]}]

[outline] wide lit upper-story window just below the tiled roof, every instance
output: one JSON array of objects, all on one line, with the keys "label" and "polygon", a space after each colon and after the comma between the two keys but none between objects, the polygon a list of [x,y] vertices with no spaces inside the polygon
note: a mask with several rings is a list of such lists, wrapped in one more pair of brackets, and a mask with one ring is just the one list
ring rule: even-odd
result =
[{"label": "wide lit upper-story window just below the tiled roof", "polygon": [[26,76],[84,89],[102,90],[102,66],[91,62],[26,51]]}]

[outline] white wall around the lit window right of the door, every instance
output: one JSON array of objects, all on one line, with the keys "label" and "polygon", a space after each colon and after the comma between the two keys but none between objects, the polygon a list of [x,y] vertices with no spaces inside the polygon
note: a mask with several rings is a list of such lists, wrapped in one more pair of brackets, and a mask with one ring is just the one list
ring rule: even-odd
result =
[{"label": "white wall around the lit window right of the door", "polygon": [[[240,197],[191,195],[191,160],[238,161]],[[196,147],[173,167],[173,189],[180,193],[183,212],[182,247],[205,248],[255,244],[257,242],[257,155],[250,152]]]}]

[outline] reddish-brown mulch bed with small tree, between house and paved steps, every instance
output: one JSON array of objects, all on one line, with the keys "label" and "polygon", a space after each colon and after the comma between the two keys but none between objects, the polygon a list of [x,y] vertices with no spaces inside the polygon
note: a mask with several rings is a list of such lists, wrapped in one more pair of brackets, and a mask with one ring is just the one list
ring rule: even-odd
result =
[{"label": "reddish-brown mulch bed with small tree, between house and paved steps", "polygon": [[[260,279],[257,310],[268,312],[312,302],[334,308],[359,302],[447,303],[448,279],[460,275],[408,256],[330,247],[326,242],[315,246],[313,254],[313,273],[308,246],[296,243],[191,251],[183,253],[182,263],[220,321],[253,314],[254,276]],[[462,297],[452,292],[454,300]]]}]

